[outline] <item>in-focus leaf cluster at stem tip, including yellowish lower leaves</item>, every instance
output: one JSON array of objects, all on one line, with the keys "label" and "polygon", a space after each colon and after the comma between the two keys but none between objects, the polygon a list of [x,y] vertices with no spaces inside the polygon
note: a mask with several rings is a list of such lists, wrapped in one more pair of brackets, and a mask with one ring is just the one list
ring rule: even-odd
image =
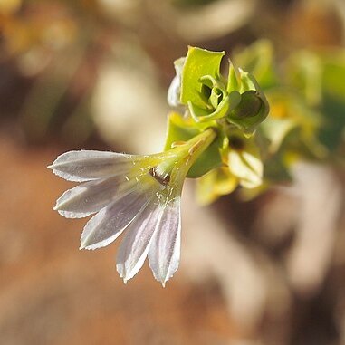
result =
[{"label": "in-focus leaf cluster at stem tip, including yellowish lower leaves", "polygon": [[225,52],[189,47],[175,62],[177,76],[168,101],[177,110],[169,115],[165,149],[185,142],[206,128],[217,139],[196,160],[187,177],[200,177],[201,202],[228,194],[238,185],[262,184],[263,162],[255,136],[269,107],[254,76],[229,62],[227,78],[220,73]]}]

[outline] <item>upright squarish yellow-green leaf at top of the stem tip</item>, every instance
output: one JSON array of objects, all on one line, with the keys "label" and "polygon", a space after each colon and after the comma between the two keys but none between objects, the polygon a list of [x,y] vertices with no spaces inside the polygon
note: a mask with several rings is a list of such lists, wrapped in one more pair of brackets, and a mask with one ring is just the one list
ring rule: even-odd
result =
[{"label": "upright squarish yellow-green leaf at top of the stem tip", "polygon": [[205,49],[188,47],[182,72],[181,103],[192,102],[197,107],[205,107],[201,96],[203,76],[219,77],[219,68],[225,52],[209,52]]}]

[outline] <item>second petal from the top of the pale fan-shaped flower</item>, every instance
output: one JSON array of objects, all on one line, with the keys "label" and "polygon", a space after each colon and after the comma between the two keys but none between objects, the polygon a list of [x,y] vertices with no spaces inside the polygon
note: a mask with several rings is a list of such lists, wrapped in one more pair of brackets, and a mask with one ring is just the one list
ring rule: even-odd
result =
[{"label": "second petal from the top of the pale fan-shaped flower", "polygon": [[54,210],[66,218],[81,218],[98,212],[120,198],[128,191],[125,186],[132,187],[124,177],[110,177],[86,182],[65,191],[56,201]]}]

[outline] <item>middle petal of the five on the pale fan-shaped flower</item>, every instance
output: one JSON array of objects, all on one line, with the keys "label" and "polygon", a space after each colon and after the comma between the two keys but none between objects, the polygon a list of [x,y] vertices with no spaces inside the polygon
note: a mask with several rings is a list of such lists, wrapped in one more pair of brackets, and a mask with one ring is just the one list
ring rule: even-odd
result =
[{"label": "middle petal of the five on the pale fan-shaped flower", "polygon": [[115,241],[148,203],[148,196],[135,190],[102,208],[85,225],[81,234],[81,249],[97,249]]}]

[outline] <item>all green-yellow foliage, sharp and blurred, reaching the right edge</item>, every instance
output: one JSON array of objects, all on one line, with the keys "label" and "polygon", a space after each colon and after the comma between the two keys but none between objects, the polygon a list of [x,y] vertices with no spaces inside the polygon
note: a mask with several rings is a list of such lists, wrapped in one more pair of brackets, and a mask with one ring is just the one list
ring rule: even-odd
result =
[{"label": "all green-yellow foliage, sharp and blurred, reaching the right edge", "polygon": [[218,130],[188,174],[200,177],[201,203],[239,185],[248,198],[290,181],[298,160],[344,163],[344,51],[298,51],[278,63],[273,45],[258,41],[235,53],[227,78],[220,73],[224,54],[189,48],[168,91],[178,111],[169,115],[166,149]]}]

